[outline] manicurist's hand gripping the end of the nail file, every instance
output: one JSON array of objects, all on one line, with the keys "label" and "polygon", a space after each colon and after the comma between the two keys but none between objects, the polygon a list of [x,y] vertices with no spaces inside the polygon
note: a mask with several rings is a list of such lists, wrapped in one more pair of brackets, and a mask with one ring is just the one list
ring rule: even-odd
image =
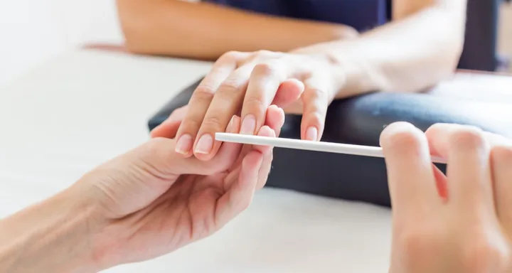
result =
[{"label": "manicurist's hand gripping the end of the nail file", "polygon": [[[397,123],[380,143],[393,204],[390,272],[512,272],[512,141]],[[447,159],[447,176],[431,154]]]}]

